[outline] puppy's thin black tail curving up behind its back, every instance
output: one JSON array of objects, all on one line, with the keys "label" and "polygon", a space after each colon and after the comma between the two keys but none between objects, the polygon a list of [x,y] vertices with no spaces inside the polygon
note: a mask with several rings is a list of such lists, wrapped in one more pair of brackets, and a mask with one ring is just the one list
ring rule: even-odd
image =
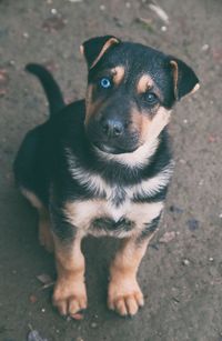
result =
[{"label": "puppy's thin black tail curving up behind its back", "polygon": [[44,67],[36,63],[27,64],[26,70],[39,78],[49,101],[50,117],[61,110],[65,103],[52,74]]}]

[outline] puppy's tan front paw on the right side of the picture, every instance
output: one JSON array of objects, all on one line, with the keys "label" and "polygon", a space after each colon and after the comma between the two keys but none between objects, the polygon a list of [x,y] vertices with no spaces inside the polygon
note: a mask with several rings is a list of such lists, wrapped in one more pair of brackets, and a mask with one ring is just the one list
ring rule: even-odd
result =
[{"label": "puppy's tan front paw on the right side of the picture", "polygon": [[111,281],[108,290],[108,307],[122,317],[134,315],[144,299],[135,279]]}]

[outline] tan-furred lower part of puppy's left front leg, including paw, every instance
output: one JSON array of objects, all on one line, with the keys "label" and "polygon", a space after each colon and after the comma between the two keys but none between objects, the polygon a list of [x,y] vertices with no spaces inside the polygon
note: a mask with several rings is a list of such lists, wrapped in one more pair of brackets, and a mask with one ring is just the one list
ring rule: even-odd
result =
[{"label": "tan-furred lower part of puppy's left front leg, including paw", "polygon": [[72,245],[65,245],[54,235],[58,279],[53,292],[53,304],[62,315],[73,315],[87,308],[84,284],[84,257],[81,238],[75,237]]}]

